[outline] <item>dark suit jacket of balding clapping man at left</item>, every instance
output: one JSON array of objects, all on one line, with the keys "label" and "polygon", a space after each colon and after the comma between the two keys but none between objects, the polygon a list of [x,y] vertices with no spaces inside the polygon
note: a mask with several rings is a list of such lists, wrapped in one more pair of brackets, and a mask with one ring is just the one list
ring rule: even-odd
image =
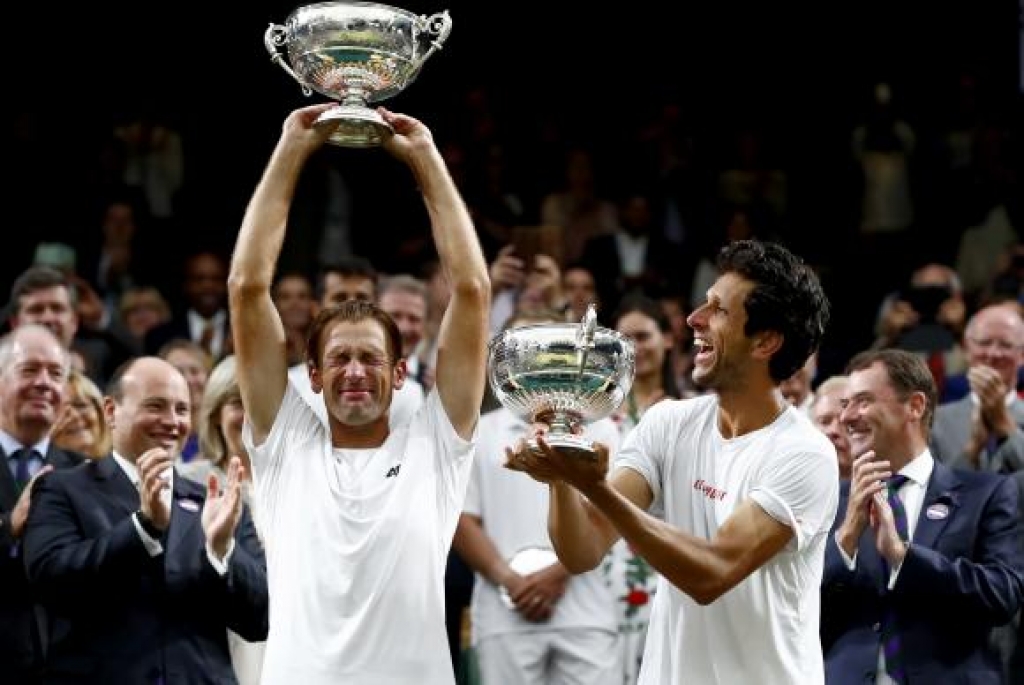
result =
[{"label": "dark suit jacket of balding clapping man at left", "polygon": [[266,562],[245,512],[221,577],[201,523],[205,489],[175,474],[164,552],[150,555],[139,497],[113,458],[37,481],[25,536],[29,580],[59,625],[44,683],[233,683],[227,629],[267,632]]}]

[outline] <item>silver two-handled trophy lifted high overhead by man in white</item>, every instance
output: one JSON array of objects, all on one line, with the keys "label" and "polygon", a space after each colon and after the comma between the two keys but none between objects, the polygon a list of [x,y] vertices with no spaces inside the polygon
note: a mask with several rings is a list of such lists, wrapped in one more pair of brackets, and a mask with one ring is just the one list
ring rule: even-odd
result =
[{"label": "silver two-handled trophy lifted high overhead by man in white", "polygon": [[341,100],[317,120],[341,122],[331,142],[372,147],[392,131],[369,104],[415,81],[451,31],[447,11],[424,16],[375,2],[318,2],[298,7],[284,26],[271,24],[263,43],[307,96],[315,90]]}]

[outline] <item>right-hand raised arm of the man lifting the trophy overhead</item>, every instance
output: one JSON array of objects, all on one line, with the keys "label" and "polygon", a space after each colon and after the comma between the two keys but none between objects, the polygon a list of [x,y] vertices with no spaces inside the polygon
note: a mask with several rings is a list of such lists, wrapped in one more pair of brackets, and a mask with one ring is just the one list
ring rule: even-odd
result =
[{"label": "right-hand raised arm of the man lifting the trophy overhead", "polygon": [[422,123],[380,110],[395,134],[385,146],[404,162],[423,194],[434,246],[452,289],[437,343],[436,387],[456,431],[468,438],[483,399],[490,313],[487,264],[466,204]]}]

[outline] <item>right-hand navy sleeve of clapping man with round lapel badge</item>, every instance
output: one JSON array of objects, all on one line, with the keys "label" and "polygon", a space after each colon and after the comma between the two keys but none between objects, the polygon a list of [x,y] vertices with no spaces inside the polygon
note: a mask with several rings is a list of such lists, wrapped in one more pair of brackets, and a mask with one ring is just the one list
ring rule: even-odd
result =
[{"label": "right-hand navy sleeve of clapping man with round lapel badge", "polygon": [[892,592],[943,603],[949,615],[964,613],[1001,625],[1024,599],[1024,546],[1017,484],[1001,478],[985,503],[971,558],[947,558],[911,545]]}]

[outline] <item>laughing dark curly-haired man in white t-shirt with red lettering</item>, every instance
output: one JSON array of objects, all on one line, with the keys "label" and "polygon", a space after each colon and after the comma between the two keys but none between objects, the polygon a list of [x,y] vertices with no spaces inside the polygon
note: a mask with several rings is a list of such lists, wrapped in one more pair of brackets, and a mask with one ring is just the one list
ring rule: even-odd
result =
[{"label": "laughing dark curly-haired man in white t-shirt with red lettering", "polygon": [[[741,241],[690,314],[709,394],[652,406],[623,443],[572,458],[538,430],[508,467],[551,484],[549,531],[572,572],[620,537],[660,574],[642,685],[824,682],[819,585],[836,515],[836,449],[778,384],[818,347],[821,287],[797,257]],[[648,511],[662,512],[655,518]]]}]

